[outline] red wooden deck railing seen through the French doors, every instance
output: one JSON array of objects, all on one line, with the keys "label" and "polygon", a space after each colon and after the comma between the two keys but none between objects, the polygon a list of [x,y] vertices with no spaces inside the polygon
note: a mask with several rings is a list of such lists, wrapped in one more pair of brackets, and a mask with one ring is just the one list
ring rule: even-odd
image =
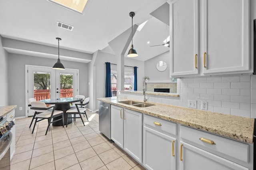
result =
[{"label": "red wooden deck railing seen through the French doors", "polygon": [[[72,98],[73,97],[73,89],[60,89],[60,98]],[[36,101],[49,99],[50,98],[50,90],[34,90],[34,98]]]}]

